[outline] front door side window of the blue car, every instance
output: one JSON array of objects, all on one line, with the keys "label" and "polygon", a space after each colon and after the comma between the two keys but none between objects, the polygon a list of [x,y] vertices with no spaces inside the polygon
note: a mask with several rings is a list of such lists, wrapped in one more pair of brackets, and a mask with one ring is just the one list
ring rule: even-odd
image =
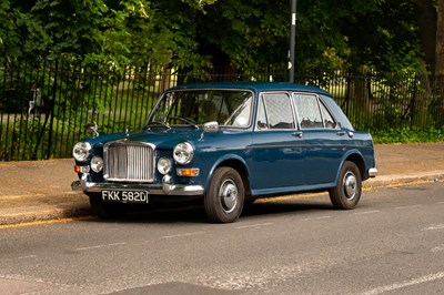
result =
[{"label": "front door side window of the blue car", "polygon": [[294,129],[292,105],[286,93],[265,93],[258,110],[258,129]]}]

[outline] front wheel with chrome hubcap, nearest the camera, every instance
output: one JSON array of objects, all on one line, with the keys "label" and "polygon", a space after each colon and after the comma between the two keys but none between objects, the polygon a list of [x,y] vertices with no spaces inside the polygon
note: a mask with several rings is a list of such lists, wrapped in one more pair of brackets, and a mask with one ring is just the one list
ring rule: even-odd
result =
[{"label": "front wheel with chrome hubcap, nearest the camera", "polygon": [[231,167],[214,171],[203,204],[212,222],[235,222],[242,213],[245,191],[241,175]]}]

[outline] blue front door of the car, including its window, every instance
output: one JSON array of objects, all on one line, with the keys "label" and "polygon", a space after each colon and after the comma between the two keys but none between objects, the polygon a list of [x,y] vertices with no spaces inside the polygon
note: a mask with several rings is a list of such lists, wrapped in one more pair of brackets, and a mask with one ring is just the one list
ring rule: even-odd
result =
[{"label": "blue front door of the car, including its window", "polygon": [[254,194],[290,192],[303,184],[304,148],[294,118],[289,93],[262,93],[249,165]]}]

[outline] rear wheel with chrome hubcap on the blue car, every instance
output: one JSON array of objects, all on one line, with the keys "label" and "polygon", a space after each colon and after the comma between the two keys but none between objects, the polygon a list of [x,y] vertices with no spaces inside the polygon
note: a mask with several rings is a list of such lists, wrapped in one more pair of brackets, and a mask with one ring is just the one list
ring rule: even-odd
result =
[{"label": "rear wheel with chrome hubcap on the blue car", "polygon": [[335,187],[330,190],[330,200],[335,208],[351,210],[360,202],[362,175],[355,163],[346,161],[341,169]]}]

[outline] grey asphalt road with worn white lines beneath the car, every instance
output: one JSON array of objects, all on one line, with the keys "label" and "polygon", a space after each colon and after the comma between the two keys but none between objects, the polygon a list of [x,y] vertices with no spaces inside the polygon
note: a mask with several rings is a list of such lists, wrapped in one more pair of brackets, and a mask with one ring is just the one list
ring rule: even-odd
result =
[{"label": "grey asphalt road with worn white lines beneath the car", "polygon": [[0,294],[443,294],[444,184],[0,227]]}]

